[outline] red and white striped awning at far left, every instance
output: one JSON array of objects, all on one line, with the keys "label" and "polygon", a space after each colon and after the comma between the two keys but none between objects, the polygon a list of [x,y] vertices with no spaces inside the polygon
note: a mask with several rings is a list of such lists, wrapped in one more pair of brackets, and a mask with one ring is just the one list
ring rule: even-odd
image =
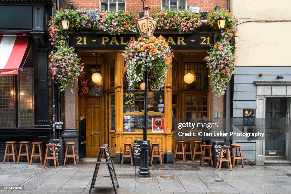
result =
[{"label": "red and white striped awning at far left", "polygon": [[0,35],[0,75],[18,74],[29,36]]}]

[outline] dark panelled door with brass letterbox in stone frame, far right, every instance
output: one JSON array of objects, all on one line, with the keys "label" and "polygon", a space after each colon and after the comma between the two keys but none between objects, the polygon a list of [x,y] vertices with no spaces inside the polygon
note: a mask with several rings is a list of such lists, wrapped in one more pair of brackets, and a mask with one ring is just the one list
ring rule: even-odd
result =
[{"label": "dark panelled door with brass letterbox in stone frame, far right", "polygon": [[285,156],[286,98],[266,98],[265,156]]}]

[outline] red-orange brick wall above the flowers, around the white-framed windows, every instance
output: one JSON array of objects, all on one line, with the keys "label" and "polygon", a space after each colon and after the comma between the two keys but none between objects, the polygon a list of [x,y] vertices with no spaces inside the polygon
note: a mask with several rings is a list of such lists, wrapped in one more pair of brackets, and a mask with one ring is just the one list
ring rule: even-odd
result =
[{"label": "red-orange brick wall above the flowers, around the white-framed windows", "polygon": [[[152,0],[145,1],[144,5],[151,8],[151,10],[155,10],[156,8],[161,8],[161,0]],[[56,1],[54,0],[54,9],[56,8]],[[60,8],[67,9],[68,6],[73,6],[74,9],[98,9],[99,1],[92,0],[61,0]],[[214,6],[220,5],[221,8],[225,8],[227,6],[226,0],[213,0],[213,1],[202,1],[202,0],[188,0],[188,8],[189,7],[199,7],[199,12],[201,11],[212,11],[214,10]],[[139,0],[126,0],[126,10],[130,10],[132,12],[139,12],[142,10],[143,2]]]}]

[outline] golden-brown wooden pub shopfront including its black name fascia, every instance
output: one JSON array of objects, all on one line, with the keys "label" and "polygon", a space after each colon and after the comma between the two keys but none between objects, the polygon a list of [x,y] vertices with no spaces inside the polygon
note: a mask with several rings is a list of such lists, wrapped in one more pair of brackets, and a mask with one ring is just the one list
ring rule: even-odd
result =
[{"label": "golden-brown wooden pub shopfront including its black name fascia", "polygon": [[[149,76],[148,140],[161,143],[162,155],[168,154],[167,159],[173,161],[172,119],[211,117],[213,99],[203,62],[216,35],[205,31],[162,35],[175,56],[164,88],[156,90],[150,85]],[[120,162],[123,143],[142,139],[144,92],[140,87],[128,88],[122,56],[125,46],[139,38],[138,34],[70,34],[70,45],[74,45],[85,66],[77,89],[78,113],[86,118],[87,157],[97,157],[102,144],[108,143],[111,156]],[[102,75],[97,84],[91,80],[95,72]],[[194,74],[195,81],[186,84],[183,77],[189,72]],[[152,118],[164,118],[164,130],[153,131]]]}]

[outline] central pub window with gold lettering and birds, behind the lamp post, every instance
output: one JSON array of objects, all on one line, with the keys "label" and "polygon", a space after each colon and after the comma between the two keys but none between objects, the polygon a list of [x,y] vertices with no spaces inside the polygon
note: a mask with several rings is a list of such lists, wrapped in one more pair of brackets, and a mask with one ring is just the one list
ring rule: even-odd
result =
[{"label": "central pub window with gold lettering and birds, behind the lamp post", "polygon": [[[148,130],[152,129],[152,118],[164,118],[165,92],[148,83]],[[141,81],[142,82],[142,81]],[[140,84],[140,83],[139,83]],[[123,77],[123,132],[143,130],[144,90],[128,88],[126,75]]]}]

